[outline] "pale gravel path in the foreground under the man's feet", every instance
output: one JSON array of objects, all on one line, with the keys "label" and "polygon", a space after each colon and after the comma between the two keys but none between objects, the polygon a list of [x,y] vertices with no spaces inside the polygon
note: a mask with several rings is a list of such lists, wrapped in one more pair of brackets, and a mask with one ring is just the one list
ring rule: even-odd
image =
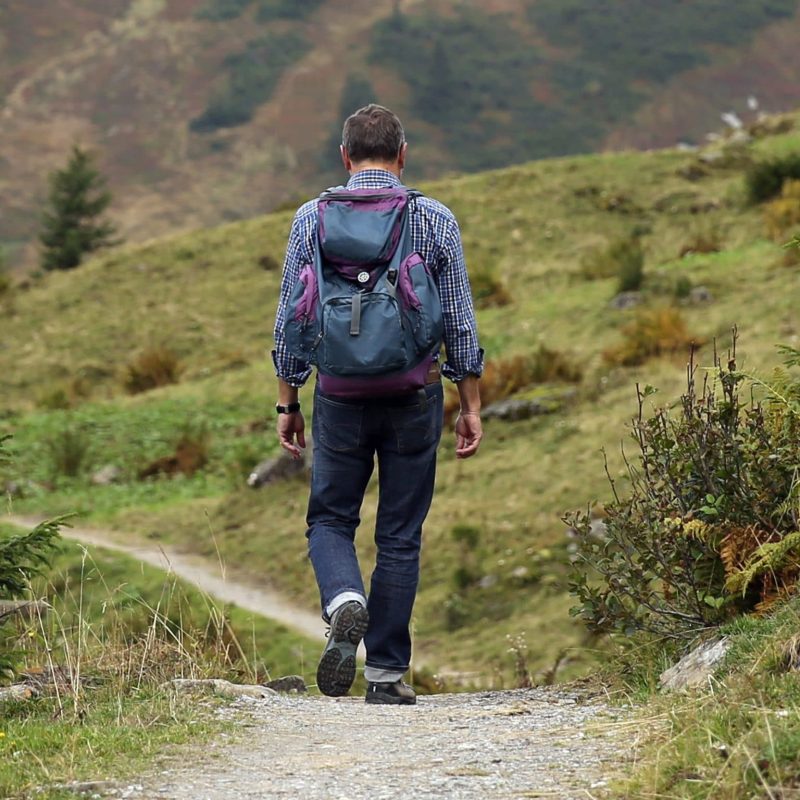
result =
[{"label": "pale gravel path in the foreground under the man's feet", "polygon": [[130,786],[128,798],[395,800],[598,796],[635,748],[635,723],[549,689],[420,697],[276,695],[221,710],[245,730]]}]

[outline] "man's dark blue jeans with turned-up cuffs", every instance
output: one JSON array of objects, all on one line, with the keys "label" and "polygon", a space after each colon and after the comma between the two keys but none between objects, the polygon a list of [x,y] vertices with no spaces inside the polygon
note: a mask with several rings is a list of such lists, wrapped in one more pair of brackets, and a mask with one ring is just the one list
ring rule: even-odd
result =
[{"label": "man's dark blue jeans with turned-up cuffs", "polygon": [[[419,581],[422,523],[433,498],[442,435],[442,385],[407,398],[353,401],[314,395],[308,554],[323,616],[343,592],[368,597],[367,665],[405,672]],[[377,555],[369,595],[354,545],[361,503],[378,460]]]}]

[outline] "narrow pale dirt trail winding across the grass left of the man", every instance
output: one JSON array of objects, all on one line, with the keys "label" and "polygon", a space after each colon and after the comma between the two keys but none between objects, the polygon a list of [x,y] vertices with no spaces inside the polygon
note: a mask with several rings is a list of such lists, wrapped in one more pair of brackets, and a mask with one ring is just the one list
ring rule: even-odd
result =
[{"label": "narrow pale dirt trail winding across the grass left of the man", "polygon": [[[30,529],[42,518],[13,515],[0,517],[0,521]],[[224,603],[232,603],[246,611],[274,619],[312,639],[324,638],[325,628],[316,614],[296,607],[278,592],[231,580],[220,574],[219,568],[212,568],[207,561],[196,556],[179,553],[157,542],[139,541],[133,536],[127,536],[128,542],[123,543],[119,539],[125,534],[102,528],[62,528],[61,534],[65,539],[74,539],[81,544],[125,553],[145,564],[172,572]]]}]

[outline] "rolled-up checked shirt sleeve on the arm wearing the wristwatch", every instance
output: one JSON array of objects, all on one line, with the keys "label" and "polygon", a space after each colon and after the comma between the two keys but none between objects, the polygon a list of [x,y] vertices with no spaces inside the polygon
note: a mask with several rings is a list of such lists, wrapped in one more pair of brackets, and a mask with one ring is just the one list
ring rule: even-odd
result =
[{"label": "rolled-up checked shirt sleeve on the arm wearing the wristwatch", "polygon": [[283,263],[281,292],[278,299],[278,310],[275,314],[275,349],[272,351],[272,362],[276,375],[290,386],[300,387],[311,375],[311,366],[295,358],[286,349],[284,321],[286,306],[295,284],[300,277],[300,270],[312,258],[311,242],[314,236],[315,208],[311,204],[301,207],[292,222],[289,242],[286,247],[286,259]]}]

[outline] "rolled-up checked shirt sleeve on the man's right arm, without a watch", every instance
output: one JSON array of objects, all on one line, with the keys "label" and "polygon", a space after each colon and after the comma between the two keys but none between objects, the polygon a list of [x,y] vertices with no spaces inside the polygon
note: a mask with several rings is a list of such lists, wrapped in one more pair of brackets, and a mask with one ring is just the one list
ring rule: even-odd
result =
[{"label": "rolled-up checked shirt sleeve on the man's right arm, without a watch", "polygon": [[447,220],[440,254],[439,295],[442,300],[444,346],[447,353],[442,374],[458,383],[467,375],[480,377],[483,373],[483,350],[478,344],[461,232],[454,217]]}]

